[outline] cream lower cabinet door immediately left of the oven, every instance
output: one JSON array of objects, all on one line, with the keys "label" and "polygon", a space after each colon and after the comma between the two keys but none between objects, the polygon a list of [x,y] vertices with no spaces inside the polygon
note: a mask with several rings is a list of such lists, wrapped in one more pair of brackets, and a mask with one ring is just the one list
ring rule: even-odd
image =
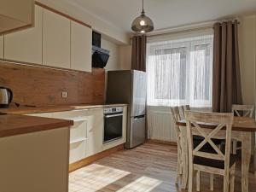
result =
[{"label": "cream lower cabinet door immediately left of the oven", "polygon": [[103,109],[87,111],[87,146],[86,157],[102,152],[103,147]]}]

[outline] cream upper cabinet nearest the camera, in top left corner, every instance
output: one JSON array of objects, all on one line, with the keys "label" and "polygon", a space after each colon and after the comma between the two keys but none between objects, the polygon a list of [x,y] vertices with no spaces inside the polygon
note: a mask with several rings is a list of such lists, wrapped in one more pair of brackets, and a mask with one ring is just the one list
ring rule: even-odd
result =
[{"label": "cream upper cabinet nearest the camera, in top left corner", "polygon": [[32,26],[33,17],[34,0],[1,0],[0,33]]}]

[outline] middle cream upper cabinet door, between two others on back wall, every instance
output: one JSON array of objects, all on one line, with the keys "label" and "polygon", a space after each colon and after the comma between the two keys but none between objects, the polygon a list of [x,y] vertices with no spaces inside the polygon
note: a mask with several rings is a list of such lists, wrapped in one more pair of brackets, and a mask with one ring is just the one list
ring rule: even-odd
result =
[{"label": "middle cream upper cabinet door, between two others on back wall", "polygon": [[70,68],[70,20],[43,10],[43,64]]}]

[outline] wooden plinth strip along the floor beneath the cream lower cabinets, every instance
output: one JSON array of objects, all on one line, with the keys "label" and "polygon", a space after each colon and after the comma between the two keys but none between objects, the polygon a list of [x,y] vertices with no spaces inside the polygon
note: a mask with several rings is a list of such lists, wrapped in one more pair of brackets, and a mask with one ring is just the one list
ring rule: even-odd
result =
[{"label": "wooden plinth strip along the floor beneath the cream lower cabinets", "polygon": [[108,150],[102,151],[98,154],[91,155],[90,157],[84,158],[83,160],[79,160],[77,162],[74,162],[69,165],[69,172],[73,172],[79,168],[82,168],[84,166],[88,166],[91,163],[95,162],[96,160],[101,160],[103,157],[108,156],[109,154],[113,154],[115,152],[118,152],[120,150],[124,149],[124,144],[120,144],[116,147],[109,148]]}]

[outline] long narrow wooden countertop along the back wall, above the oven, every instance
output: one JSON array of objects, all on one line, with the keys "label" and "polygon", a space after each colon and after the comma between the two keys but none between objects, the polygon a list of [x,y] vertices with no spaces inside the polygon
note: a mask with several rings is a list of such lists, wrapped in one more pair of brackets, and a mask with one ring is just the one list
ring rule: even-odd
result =
[{"label": "long narrow wooden countertop along the back wall, above the oven", "polygon": [[63,111],[73,111],[73,110],[83,110],[92,108],[111,108],[111,107],[123,107],[127,104],[106,104],[106,105],[67,105],[67,106],[48,106],[48,107],[20,107],[20,108],[7,108],[0,109],[2,113],[8,114],[31,114],[31,113],[53,113],[53,112],[63,112]]}]

